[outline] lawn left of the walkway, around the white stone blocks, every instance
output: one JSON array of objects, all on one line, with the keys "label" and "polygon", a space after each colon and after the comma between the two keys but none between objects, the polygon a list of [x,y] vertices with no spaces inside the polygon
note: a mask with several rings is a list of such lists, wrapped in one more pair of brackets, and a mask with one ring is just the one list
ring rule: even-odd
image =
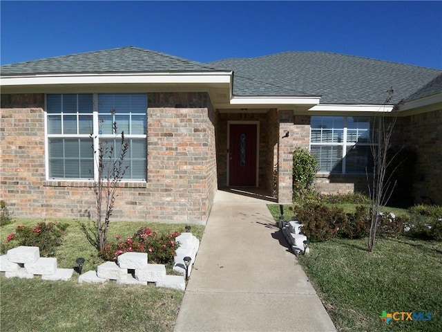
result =
[{"label": "lawn left of the walkway, around the white stone blocks", "polygon": [[[55,219],[54,219],[55,220]],[[102,264],[97,250],[81,232],[79,221],[68,222],[68,234],[57,248],[57,266],[73,268],[75,259],[84,257],[84,272]],[[0,228],[3,242],[17,225],[35,225],[42,219],[19,219]],[[50,220],[46,220],[50,221]],[[114,222],[109,239],[116,234],[128,237],[142,226],[158,232],[184,231],[183,224]],[[201,239],[204,226],[192,225],[191,232]],[[78,284],[74,273],[68,282],[34,279],[7,279],[0,276],[1,331],[173,331],[182,302],[182,291],[148,286]]]}]

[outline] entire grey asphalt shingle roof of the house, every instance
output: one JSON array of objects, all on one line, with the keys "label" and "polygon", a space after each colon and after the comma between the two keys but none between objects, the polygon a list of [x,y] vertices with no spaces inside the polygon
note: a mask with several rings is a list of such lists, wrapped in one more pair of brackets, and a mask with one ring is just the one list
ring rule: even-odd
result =
[{"label": "entire grey asphalt shingle roof of the house", "polygon": [[1,66],[1,75],[234,71],[233,95],[320,95],[321,104],[383,104],[442,92],[442,71],[327,52],[285,52],[202,64],[132,46]]}]

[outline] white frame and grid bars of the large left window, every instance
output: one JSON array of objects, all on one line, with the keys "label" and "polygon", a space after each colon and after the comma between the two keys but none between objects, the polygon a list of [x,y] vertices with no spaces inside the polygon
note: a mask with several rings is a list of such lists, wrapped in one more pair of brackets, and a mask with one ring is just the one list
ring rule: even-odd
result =
[{"label": "white frame and grid bars of the large left window", "polygon": [[[49,127],[48,127],[48,116],[50,116],[50,112],[48,112],[48,95],[77,95],[77,105],[78,105],[78,95],[92,95],[93,96],[93,111],[92,114],[90,113],[81,113],[77,107],[77,133],[64,133],[64,115],[65,113],[63,110],[60,111],[60,113],[55,114],[61,114],[61,133],[49,133]],[[44,137],[45,137],[45,173],[46,173],[46,181],[70,181],[70,182],[78,182],[78,181],[86,181],[86,182],[93,182],[98,181],[98,154],[95,154],[93,151],[97,151],[99,148],[99,142],[100,140],[121,140],[121,131],[119,133],[105,133],[102,134],[99,132],[99,104],[98,104],[98,96],[99,95],[144,95],[146,97],[146,111],[145,113],[135,113],[136,115],[143,114],[146,116],[146,122],[144,122],[144,133],[124,133],[125,140],[144,140],[144,146],[145,146],[145,158],[143,158],[145,163],[145,173],[144,178],[123,178],[122,182],[126,183],[145,183],[147,182],[147,165],[148,165],[148,139],[147,139],[147,111],[148,111],[148,98],[147,93],[46,93],[45,94],[45,107],[44,107]],[[61,102],[61,105],[63,105],[63,102]],[[127,112],[125,112],[127,113]],[[129,112],[131,113],[131,112]],[[68,113],[71,115],[71,113]],[[91,116],[92,121],[92,127],[93,133],[79,133],[79,116],[80,115],[88,115]],[[118,111],[117,111],[118,114]],[[115,118],[115,117],[114,117]],[[131,119],[131,115],[129,116],[129,119]],[[131,126],[131,122],[129,121],[129,126]],[[49,141],[51,138],[78,138],[78,139],[86,139],[90,142],[90,154],[93,158],[93,169],[90,169],[91,172],[93,172],[93,176],[90,176],[88,178],[66,178],[66,177],[55,177],[50,176],[50,150],[49,150]],[[93,145],[93,148],[92,148]],[[129,149],[131,149],[131,144],[129,143]],[[64,157],[65,158],[65,157]],[[80,159],[80,153],[79,153],[79,159]],[[135,158],[137,159],[137,158]],[[140,158],[138,158],[141,160]],[[64,159],[65,160],[65,159]],[[133,158],[125,159],[128,163],[133,163]],[[127,172],[127,171],[126,171]],[[128,172],[129,171],[128,169]],[[126,173],[127,174],[127,173]],[[80,174],[81,175],[81,174]]]}]

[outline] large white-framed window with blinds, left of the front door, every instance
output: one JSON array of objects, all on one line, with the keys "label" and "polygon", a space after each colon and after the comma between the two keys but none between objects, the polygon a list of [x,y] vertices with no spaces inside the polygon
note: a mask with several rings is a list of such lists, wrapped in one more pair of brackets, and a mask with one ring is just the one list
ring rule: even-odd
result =
[{"label": "large white-framed window with blinds, left of the front door", "polygon": [[146,180],[145,94],[50,94],[45,115],[48,178],[94,179],[93,146],[113,147],[113,158],[118,158],[124,131],[129,143],[124,180]]}]

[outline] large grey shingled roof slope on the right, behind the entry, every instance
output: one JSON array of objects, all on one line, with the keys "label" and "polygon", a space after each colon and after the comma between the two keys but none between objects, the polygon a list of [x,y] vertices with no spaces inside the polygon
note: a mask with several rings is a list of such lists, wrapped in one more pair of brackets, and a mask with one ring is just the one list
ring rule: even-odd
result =
[{"label": "large grey shingled roof slope on the right, behind the entry", "polygon": [[[393,87],[392,102],[408,99],[442,73],[438,69],[327,52],[285,52],[264,57],[210,62],[213,68],[229,68],[235,75],[298,91],[322,95],[321,104],[382,104]],[[442,88],[439,86],[439,91]],[[233,86],[233,94],[253,94]]]}]

